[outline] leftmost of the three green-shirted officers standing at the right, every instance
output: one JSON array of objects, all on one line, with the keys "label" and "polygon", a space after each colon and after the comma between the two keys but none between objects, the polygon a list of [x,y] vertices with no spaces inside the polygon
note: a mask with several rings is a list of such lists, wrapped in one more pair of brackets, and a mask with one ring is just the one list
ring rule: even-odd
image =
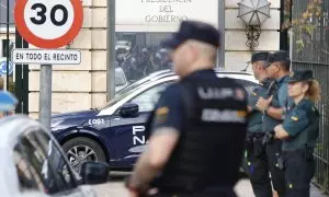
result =
[{"label": "leftmost of the three green-shirted officers standing at the right", "polygon": [[249,95],[249,123],[247,134],[247,152],[245,154],[246,172],[250,177],[256,197],[272,197],[268,159],[262,146],[265,132],[262,131],[262,113],[256,107],[259,97],[268,97],[268,89],[273,80],[268,79],[266,70],[270,53],[260,51],[251,56],[252,71],[259,85]]}]

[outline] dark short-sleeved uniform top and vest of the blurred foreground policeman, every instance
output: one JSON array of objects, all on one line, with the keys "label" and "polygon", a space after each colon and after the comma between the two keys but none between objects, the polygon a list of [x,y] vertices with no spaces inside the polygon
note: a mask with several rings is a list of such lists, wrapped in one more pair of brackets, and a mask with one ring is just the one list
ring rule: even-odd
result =
[{"label": "dark short-sleeved uniform top and vest of the blurred foreground policeman", "polygon": [[180,132],[157,187],[235,185],[247,131],[247,93],[238,82],[218,79],[213,70],[194,72],[164,91],[155,116],[152,130],[173,127]]}]

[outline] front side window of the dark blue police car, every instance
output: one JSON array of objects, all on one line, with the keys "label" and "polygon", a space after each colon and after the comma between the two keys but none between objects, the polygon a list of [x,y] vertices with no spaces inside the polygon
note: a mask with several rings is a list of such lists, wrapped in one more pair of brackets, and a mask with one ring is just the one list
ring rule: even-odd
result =
[{"label": "front side window of the dark blue police car", "polygon": [[131,100],[129,103],[137,104],[139,107],[139,112],[151,112],[155,108],[158,100],[160,99],[161,93],[169,84],[170,83],[162,83],[152,86]]}]

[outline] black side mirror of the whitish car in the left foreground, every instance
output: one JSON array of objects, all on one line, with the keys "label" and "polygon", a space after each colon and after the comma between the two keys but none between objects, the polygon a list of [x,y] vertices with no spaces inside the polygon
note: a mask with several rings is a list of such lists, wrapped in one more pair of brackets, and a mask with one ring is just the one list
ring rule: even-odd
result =
[{"label": "black side mirror of the whitish car in the left foreground", "polygon": [[82,184],[95,185],[109,181],[110,167],[102,162],[84,162],[81,165],[80,176]]}]

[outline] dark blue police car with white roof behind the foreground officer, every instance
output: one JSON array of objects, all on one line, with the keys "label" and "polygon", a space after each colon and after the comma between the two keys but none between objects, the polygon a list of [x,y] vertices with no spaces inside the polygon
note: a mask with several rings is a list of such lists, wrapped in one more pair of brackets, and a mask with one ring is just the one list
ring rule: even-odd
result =
[{"label": "dark blue police car with white roof behind the foreground officer", "polygon": [[[237,79],[247,91],[258,83],[246,72],[216,73]],[[155,72],[122,89],[102,107],[53,116],[52,131],[72,167],[79,171],[84,161],[102,161],[112,170],[131,170],[147,144],[147,117],[160,93],[177,80],[170,70]]]}]

